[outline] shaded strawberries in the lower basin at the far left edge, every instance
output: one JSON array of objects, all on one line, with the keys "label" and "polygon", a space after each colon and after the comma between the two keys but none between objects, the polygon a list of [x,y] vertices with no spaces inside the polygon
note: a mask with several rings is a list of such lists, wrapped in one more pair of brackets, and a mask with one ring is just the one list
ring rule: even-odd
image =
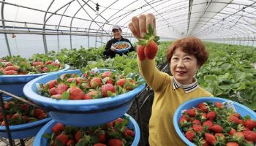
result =
[{"label": "shaded strawberries in the lower basin at the far left edge", "polygon": [[[10,125],[31,123],[48,117],[47,113],[43,110],[18,100],[4,101],[4,109],[7,112],[7,120]],[[1,126],[5,126],[4,117],[1,114],[1,109],[0,122]]]}]

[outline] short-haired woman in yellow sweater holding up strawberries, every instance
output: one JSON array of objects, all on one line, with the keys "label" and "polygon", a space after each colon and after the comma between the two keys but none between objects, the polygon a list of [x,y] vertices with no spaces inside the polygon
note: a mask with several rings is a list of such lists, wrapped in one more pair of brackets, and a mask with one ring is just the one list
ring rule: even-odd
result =
[{"label": "short-haired woman in yellow sweater holding up strawberries", "polygon": [[[133,17],[129,29],[135,37],[143,38],[148,24],[156,30],[154,15]],[[176,134],[173,115],[179,105],[190,99],[212,96],[197,85],[195,74],[208,59],[208,53],[196,37],[178,39],[167,49],[167,61],[173,76],[160,72],[155,59],[138,59],[140,74],[154,90],[154,102],[149,121],[149,145],[185,145]]]}]

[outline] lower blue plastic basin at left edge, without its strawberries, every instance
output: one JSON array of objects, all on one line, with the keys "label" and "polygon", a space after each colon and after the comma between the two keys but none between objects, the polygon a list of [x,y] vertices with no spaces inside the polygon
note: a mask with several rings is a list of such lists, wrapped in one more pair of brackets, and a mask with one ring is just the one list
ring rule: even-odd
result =
[{"label": "lower blue plastic basin at left edge, without its strawberries", "polygon": [[[49,120],[51,120],[51,118],[45,118],[32,123],[10,126],[12,139],[25,139],[28,137],[34,137],[37,132],[42,128],[42,126],[45,126],[45,123],[48,123]],[[5,129],[5,126],[0,126],[0,136],[8,138]]]}]

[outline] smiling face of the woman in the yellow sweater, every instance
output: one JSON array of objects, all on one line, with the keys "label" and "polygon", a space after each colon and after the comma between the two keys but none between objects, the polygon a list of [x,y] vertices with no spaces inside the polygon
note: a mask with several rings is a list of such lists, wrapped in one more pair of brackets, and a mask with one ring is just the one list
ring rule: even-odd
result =
[{"label": "smiling face of the woman in the yellow sweater", "polygon": [[199,67],[195,55],[184,53],[181,48],[174,50],[170,59],[170,72],[178,82],[183,85],[191,84]]}]

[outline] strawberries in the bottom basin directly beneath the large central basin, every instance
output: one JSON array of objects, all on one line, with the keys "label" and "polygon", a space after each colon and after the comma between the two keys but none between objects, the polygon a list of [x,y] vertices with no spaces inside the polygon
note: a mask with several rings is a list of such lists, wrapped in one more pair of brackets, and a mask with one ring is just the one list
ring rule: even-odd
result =
[{"label": "strawberries in the bottom basin directly beneath the large central basin", "polygon": [[50,146],[126,146],[132,145],[135,137],[134,131],[127,127],[129,117],[118,118],[102,126],[76,128],[56,123],[52,134],[44,134],[50,139]]}]

